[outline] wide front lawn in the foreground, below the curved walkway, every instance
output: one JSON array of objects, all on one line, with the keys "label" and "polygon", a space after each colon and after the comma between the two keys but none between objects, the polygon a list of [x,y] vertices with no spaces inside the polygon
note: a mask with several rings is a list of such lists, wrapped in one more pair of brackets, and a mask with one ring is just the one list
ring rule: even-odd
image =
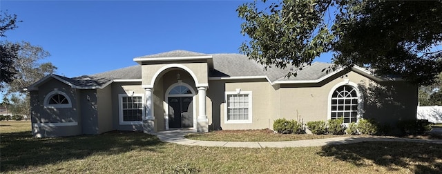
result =
[{"label": "wide front lawn in the foreground, below the curved walkway", "polygon": [[[442,144],[365,142],[307,148],[222,148],[144,133],[37,139],[0,122],[2,173],[441,173]],[[6,126],[9,125],[9,126]],[[23,127],[19,131],[16,127]]]}]

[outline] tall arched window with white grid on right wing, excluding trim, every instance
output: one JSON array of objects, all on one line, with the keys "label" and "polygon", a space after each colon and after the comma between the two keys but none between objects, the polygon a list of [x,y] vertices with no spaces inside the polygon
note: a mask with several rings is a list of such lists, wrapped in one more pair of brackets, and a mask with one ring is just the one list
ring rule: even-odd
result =
[{"label": "tall arched window with white grid on right wing, excluding trim", "polygon": [[331,119],[344,118],[344,123],[356,122],[358,118],[358,94],[356,88],[344,85],[332,94]]}]

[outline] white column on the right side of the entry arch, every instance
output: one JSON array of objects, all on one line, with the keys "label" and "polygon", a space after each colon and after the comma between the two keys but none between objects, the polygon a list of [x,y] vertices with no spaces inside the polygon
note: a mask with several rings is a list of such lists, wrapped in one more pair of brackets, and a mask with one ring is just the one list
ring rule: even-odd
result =
[{"label": "white column on the right side of the entry arch", "polygon": [[205,133],[209,131],[209,120],[206,115],[206,86],[198,87],[198,119],[197,131]]}]

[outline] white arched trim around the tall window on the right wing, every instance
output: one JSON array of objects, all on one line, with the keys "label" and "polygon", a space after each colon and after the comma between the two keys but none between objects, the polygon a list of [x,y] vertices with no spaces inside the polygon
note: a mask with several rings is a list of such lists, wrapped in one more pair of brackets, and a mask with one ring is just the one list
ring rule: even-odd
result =
[{"label": "white arched trim around the tall window on the right wing", "polygon": [[[356,95],[358,95],[358,115],[356,116],[356,123],[359,122],[359,120],[363,119],[363,95],[359,92],[358,84],[352,82],[352,81],[342,81],[330,90],[329,97],[328,97],[328,105],[327,105],[327,120],[332,119],[332,96],[334,91],[339,88],[340,86],[352,86],[356,90]],[[349,123],[344,123],[344,125],[348,126]]]}]

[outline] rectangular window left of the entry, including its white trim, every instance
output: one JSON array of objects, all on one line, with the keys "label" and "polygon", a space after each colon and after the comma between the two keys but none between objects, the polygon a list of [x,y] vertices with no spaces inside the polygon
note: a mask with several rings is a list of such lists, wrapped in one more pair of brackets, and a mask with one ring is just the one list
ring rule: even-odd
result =
[{"label": "rectangular window left of the entry, including its white trim", "polygon": [[142,124],[144,105],[142,95],[119,95],[119,123]]}]

